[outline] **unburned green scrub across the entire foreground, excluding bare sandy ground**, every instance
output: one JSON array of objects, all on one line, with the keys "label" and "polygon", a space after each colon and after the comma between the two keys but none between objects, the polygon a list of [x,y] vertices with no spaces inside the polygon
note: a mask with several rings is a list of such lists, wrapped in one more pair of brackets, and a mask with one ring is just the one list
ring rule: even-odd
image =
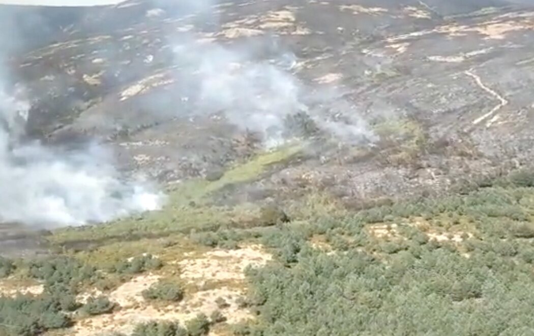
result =
[{"label": "unburned green scrub across the entire foreground, excluding bare sandy ground", "polygon": [[[83,316],[113,314],[114,303],[105,297],[82,305],[75,295],[107,279],[121,283],[141,273],[160,277],[140,291],[146,305],[182,305],[188,295],[215,287],[203,278],[183,285],[180,261],[206,258],[214,248],[239,251],[261,244],[273,260],[250,267],[244,282],[223,282],[246,286],[244,299],[232,301],[237,306],[232,309],[250,311],[253,319],[229,324],[231,304],[218,298],[217,310],[206,315],[140,324],[133,335],[193,336],[213,328],[235,335],[530,334],[532,176],[523,170],[474,183],[462,193],[359,211],[316,193],[300,207],[260,209],[265,221],[256,226],[201,224],[187,233],[67,249],[68,256],[10,268],[11,276],[26,274],[43,283],[44,292],[1,299],[0,323],[16,326],[4,327],[10,334],[32,335]],[[47,311],[46,319],[37,310]]]}]

